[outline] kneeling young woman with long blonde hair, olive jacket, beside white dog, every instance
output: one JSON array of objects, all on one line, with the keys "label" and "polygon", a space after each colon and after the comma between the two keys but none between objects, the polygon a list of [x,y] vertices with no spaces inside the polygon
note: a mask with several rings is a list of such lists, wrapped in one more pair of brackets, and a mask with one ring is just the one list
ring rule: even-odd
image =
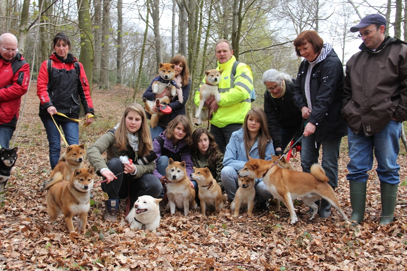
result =
[{"label": "kneeling young woman with long blonde hair, olive jacket, beside white dog", "polygon": [[[102,157],[104,152],[107,153],[107,164]],[[131,207],[139,196],[157,198],[160,195],[160,180],[152,174],[156,167],[155,156],[151,157],[154,155],[153,143],[141,105],[129,105],[120,124],[92,144],[87,155],[96,172],[107,179],[101,184],[103,192],[109,196],[105,202],[105,220],[117,220],[120,199],[130,197]],[[127,156],[135,162],[123,164],[120,156]],[[143,157],[146,159],[138,164],[137,160],[141,161],[139,159]]]}]

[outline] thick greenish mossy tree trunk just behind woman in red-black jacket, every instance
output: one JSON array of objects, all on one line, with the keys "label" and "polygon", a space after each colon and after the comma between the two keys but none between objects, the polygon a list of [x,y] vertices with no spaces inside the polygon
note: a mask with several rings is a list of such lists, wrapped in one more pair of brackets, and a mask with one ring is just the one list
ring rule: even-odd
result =
[{"label": "thick greenish mossy tree trunk just behind woman in red-black jacket", "polygon": [[[80,54],[79,61],[82,63],[83,70],[88,77],[88,81],[92,82],[93,78],[93,46],[92,46],[92,24],[91,14],[89,11],[89,0],[78,0],[78,19],[80,33]],[[92,84],[89,85],[92,93]]]}]

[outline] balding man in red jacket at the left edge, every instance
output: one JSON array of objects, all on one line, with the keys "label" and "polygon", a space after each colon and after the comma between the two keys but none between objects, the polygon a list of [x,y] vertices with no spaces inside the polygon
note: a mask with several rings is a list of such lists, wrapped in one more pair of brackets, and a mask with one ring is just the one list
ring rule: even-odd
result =
[{"label": "balding man in red jacket at the left edge", "polygon": [[17,38],[0,36],[0,145],[9,147],[16,129],[21,96],[28,89],[30,66],[17,49]]}]

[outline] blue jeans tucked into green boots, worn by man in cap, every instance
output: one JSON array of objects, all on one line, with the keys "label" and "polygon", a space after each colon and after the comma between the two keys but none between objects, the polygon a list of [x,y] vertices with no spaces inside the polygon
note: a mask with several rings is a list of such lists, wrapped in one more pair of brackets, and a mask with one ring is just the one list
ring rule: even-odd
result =
[{"label": "blue jeans tucked into green boots, worn by man in cap", "polygon": [[346,179],[350,182],[367,182],[367,171],[373,166],[374,149],[376,172],[380,182],[398,185],[400,166],[397,164],[397,155],[400,150],[400,136],[401,123],[393,120],[372,136],[365,136],[363,131],[355,134],[348,129],[347,142],[351,161],[347,164],[349,173]]}]

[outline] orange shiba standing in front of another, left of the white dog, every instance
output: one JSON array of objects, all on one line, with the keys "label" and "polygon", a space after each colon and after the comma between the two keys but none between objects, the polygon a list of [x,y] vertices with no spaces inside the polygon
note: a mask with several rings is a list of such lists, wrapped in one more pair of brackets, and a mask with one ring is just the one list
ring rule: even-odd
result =
[{"label": "orange shiba standing in front of another, left of the white dog", "polygon": [[79,232],[85,230],[91,207],[94,173],[93,167],[76,169],[67,182],[63,180],[61,172],[56,172],[50,182],[44,184],[44,190],[48,190],[47,209],[51,224],[55,223],[62,211],[69,232],[75,230],[72,222],[74,216],[79,216]]}]

